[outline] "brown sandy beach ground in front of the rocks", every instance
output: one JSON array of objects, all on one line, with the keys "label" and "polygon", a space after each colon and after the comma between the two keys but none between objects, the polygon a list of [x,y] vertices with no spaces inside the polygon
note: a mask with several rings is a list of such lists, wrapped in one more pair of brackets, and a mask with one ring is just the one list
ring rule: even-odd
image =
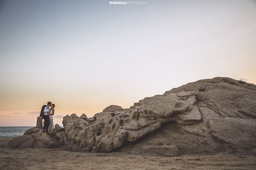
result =
[{"label": "brown sandy beach ground in front of the rocks", "polygon": [[0,169],[256,169],[255,152],[153,157],[70,152],[64,147],[13,149],[0,139]]}]

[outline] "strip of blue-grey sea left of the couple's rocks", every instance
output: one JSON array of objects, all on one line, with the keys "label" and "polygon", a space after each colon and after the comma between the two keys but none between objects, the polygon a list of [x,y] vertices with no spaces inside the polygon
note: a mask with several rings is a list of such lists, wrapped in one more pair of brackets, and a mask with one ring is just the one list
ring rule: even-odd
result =
[{"label": "strip of blue-grey sea left of the couple's rocks", "polygon": [[1,126],[0,138],[21,136],[33,126]]}]

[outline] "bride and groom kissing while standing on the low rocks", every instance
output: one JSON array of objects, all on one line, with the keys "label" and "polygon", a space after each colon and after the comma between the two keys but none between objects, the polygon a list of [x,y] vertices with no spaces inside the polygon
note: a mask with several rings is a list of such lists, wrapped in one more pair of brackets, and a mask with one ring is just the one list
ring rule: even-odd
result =
[{"label": "bride and groom kissing while standing on the low rocks", "polygon": [[51,103],[50,101],[47,103],[47,105],[44,105],[41,109],[40,116],[44,119],[44,127],[43,130],[45,132],[48,132],[48,129],[54,129],[54,123],[53,123],[53,117],[54,115],[54,107],[55,104]]}]

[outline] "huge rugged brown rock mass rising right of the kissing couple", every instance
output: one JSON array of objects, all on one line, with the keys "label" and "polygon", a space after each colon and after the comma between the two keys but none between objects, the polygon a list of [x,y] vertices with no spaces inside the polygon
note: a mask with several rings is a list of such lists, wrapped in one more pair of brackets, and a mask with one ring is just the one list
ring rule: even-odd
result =
[{"label": "huge rugged brown rock mass rising right of the kissing couple", "polygon": [[73,151],[176,156],[252,149],[256,86],[226,77],[199,80],[129,109],[111,105],[92,118],[67,115],[63,125],[51,138]]}]

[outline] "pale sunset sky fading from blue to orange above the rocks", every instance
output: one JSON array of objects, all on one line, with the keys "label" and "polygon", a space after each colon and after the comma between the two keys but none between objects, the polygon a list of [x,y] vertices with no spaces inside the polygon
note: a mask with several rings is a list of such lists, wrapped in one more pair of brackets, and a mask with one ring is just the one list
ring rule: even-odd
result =
[{"label": "pale sunset sky fading from blue to orange above the rocks", "polygon": [[0,0],[0,126],[133,106],[199,79],[256,84],[256,1]]}]

